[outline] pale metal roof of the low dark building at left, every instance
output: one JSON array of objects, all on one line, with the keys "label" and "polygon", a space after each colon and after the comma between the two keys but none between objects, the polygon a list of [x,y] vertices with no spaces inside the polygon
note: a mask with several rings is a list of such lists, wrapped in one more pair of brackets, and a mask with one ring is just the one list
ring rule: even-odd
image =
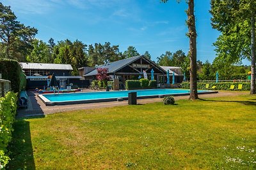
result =
[{"label": "pale metal roof of the low dark building at left", "polygon": [[54,69],[54,70],[73,70],[70,64],[48,64],[48,63],[32,63],[20,62],[22,69]]}]

